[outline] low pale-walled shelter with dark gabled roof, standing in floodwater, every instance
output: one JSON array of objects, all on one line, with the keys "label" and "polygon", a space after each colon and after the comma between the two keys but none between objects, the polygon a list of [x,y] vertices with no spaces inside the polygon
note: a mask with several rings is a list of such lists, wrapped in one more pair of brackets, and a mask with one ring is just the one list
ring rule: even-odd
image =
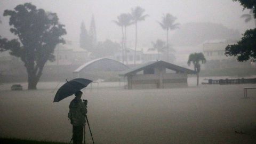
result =
[{"label": "low pale-walled shelter with dark gabled roof, standing in floodwater", "polygon": [[153,89],[188,86],[188,74],[196,72],[165,61],[153,61],[122,71],[119,76],[127,77],[128,89]]}]

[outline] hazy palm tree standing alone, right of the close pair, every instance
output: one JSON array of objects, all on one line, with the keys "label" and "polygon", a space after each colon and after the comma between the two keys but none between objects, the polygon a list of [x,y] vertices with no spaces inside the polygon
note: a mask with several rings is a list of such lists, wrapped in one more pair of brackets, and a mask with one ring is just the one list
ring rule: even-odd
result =
[{"label": "hazy palm tree standing alone, right of the close pair", "polygon": [[179,28],[179,23],[174,23],[177,18],[173,17],[170,13],[164,14],[162,22],[158,22],[159,25],[166,30],[166,48],[167,48],[167,61],[169,61],[169,30]]}]

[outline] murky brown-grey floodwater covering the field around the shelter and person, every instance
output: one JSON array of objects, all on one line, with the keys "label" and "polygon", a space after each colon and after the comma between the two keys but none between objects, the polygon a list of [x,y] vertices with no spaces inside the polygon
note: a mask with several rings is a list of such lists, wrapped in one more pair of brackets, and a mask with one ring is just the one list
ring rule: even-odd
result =
[{"label": "murky brown-grey floodwater covering the field around the shelter and person", "polygon": [[[108,87],[84,89],[82,98],[88,100],[95,143],[255,143],[256,90],[243,98],[243,87],[255,86]],[[1,90],[1,137],[69,142],[68,105],[74,96],[53,103],[52,87]],[[92,143],[87,125],[86,141]]]}]

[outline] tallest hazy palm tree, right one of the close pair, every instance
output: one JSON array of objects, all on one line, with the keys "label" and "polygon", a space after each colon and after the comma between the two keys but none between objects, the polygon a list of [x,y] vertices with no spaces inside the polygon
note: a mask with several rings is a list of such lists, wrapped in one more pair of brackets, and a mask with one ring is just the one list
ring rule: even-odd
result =
[{"label": "tallest hazy palm tree, right one of the close pair", "polygon": [[140,6],[135,7],[135,9],[132,9],[131,15],[133,23],[135,24],[135,51],[134,51],[134,65],[136,65],[136,49],[137,49],[137,23],[139,21],[144,21],[146,17],[148,17],[148,14],[143,15],[145,12],[144,9],[142,9]]}]

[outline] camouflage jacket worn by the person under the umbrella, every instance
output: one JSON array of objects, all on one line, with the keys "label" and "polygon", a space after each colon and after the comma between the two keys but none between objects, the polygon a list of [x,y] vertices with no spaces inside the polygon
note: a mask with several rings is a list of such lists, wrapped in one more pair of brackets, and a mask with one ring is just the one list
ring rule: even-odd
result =
[{"label": "camouflage jacket worn by the person under the umbrella", "polygon": [[81,99],[75,98],[69,104],[68,118],[74,126],[83,125],[85,123],[85,115],[87,108]]}]

